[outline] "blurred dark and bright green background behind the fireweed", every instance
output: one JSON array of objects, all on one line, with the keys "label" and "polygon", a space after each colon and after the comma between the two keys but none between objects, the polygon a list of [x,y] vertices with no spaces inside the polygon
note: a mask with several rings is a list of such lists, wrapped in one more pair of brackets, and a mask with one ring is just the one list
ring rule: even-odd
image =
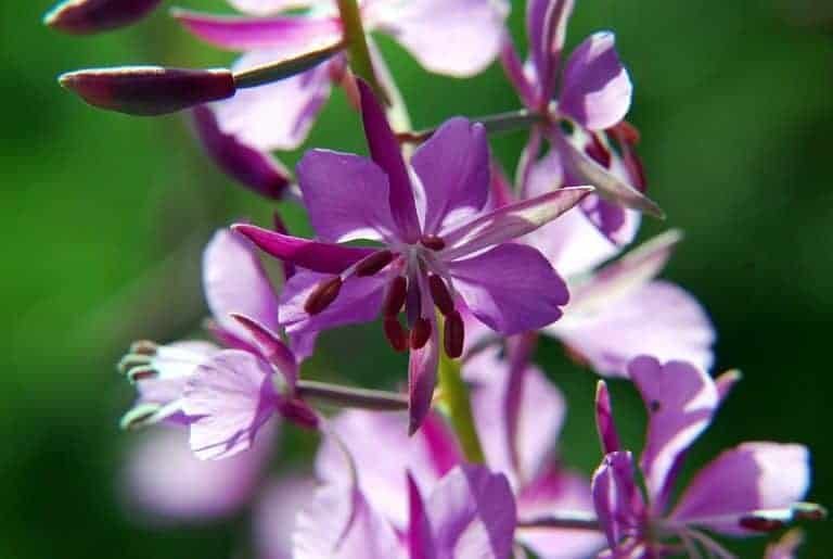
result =
[{"label": "blurred dark and bright green background behind the fireweed", "polygon": [[[691,462],[745,440],[800,442],[813,450],[810,497],[833,504],[833,9],[825,0],[578,4],[571,45],[614,29],[636,81],[630,120],[643,134],[652,196],[669,216],[646,220],[642,236],[685,230],[668,276],[710,312],[718,368],[745,372]],[[228,558],[247,539],[245,514],[161,530],[126,512],[118,475],[133,435],[117,419],[132,394],[114,364],[133,339],[197,333],[202,246],[232,218],[266,223],[273,207],[217,173],[182,118],[98,112],[55,76],[123,63],[226,64],[231,55],[190,38],[165,10],[78,39],[40,26],[49,7],[0,2],[0,558]],[[517,38],[522,12],[514,2]],[[498,67],[471,80],[437,78],[390,41],[382,47],[416,127],[516,106]],[[308,145],[360,150],[356,123],[336,94]],[[512,162],[522,141],[495,147]],[[297,225],[298,212],[290,214]],[[401,359],[377,336],[375,327],[328,335],[312,368],[366,384],[401,380]],[[589,472],[599,460],[595,379],[554,343],[539,357],[571,404],[564,460]],[[642,411],[627,386],[614,391],[638,447]],[[302,463],[298,448],[312,441],[290,441],[291,460]],[[831,557],[829,526],[807,533],[802,556]],[[739,549],[756,557],[760,546]]]}]

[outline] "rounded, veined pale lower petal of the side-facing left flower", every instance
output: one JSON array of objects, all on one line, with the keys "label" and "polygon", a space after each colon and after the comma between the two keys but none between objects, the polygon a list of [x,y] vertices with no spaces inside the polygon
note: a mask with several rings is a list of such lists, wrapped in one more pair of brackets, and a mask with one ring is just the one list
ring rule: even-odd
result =
[{"label": "rounded, veined pale lower petal of the side-facing left flower", "polygon": [[267,363],[238,350],[220,352],[197,368],[185,388],[182,409],[193,418],[192,450],[206,460],[247,449],[278,401]]}]

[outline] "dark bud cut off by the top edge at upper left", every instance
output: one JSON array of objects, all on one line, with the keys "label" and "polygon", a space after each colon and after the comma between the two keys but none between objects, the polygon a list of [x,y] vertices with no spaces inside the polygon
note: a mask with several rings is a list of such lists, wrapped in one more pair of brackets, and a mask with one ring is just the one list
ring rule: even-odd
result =
[{"label": "dark bud cut off by the top edge at upper left", "polygon": [[72,35],[90,35],[138,22],[162,0],[64,0],[43,16],[53,29]]}]

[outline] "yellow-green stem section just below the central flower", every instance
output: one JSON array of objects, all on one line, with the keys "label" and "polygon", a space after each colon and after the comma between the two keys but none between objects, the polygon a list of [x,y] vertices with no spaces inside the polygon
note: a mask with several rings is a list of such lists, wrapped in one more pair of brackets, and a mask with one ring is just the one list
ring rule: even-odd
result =
[{"label": "yellow-green stem section just below the central flower", "polygon": [[439,391],[465,458],[472,463],[483,463],[485,457],[474,428],[469,386],[460,373],[460,361],[450,359],[445,354],[439,357]]}]

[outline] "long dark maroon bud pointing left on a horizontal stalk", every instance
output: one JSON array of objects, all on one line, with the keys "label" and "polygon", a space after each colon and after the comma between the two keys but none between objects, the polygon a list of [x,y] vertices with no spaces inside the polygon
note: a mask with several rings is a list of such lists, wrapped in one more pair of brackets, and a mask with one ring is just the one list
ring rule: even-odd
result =
[{"label": "long dark maroon bud pointing left on a horizontal stalk", "polygon": [[138,116],[175,113],[236,91],[228,69],[124,66],[71,72],[59,81],[93,106]]}]

